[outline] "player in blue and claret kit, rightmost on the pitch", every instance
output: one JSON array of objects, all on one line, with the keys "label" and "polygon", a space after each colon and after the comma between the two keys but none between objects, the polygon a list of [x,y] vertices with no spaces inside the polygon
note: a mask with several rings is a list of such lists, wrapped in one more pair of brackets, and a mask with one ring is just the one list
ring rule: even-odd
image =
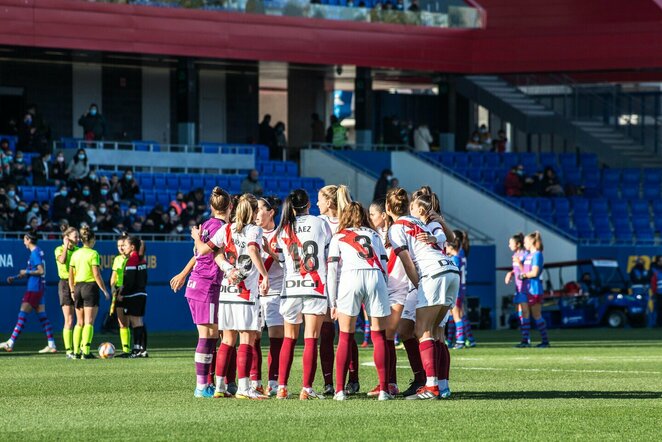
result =
[{"label": "player in blue and claret kit, rightmost on the pitch", "polygon": [[547,323],[542,317],[542,270],[544,259],[542,256],[543,244],[540,232],[536,231],[526,235],[524,238],[524,248],[529,252],[524,259],[523,271],[519,278],[528,282],[527,304],[523,306],[522,316],[529,318],[529,314],[536,321],[536,328],[540,332],[542,342],[536,347],[549,347],[549,338],[547,337]]}]

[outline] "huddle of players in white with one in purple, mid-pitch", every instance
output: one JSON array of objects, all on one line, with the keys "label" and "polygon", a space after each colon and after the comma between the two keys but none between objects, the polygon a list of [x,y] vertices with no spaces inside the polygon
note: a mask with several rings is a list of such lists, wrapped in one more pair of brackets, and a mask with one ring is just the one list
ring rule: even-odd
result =
[{"label": "huddle of players in white with one in purple, mid-pitch", "polygon": [[[389,400],[400,394],[398,333],[415,374],[401,394],[450,397],[444,327],[464,284],[456,264],[461,239],[445,223],[428,187],[411,196],[392,189],[385,201],[366,210],[351,201],[345,186],[326,186],[318,195],[320,216],[310,215],[310,198],[297,189],[280,207],[278,225],[275,198],[233,198],[216,187],[209,203],[211,218],[191,232],[193,256],[171,280],[174,291],[186,285],[198,328],[196,397],[288,399],[304,324],[299,399],[346,400],[360,388],[354,333],[362,309],[370,319],[379,379],[368,396]],[[265,325],[270,347],[263,385]],[[318,354],[322,392],[312,388]]]}]

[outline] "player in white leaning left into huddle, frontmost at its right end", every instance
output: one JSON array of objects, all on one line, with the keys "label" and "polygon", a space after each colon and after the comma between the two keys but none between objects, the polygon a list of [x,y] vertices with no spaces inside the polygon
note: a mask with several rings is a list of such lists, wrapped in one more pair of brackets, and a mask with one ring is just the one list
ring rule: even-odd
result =
[{"label": "player in white leaning left into huddle, frontmost at its right end", "polygon": [[431,232],[420,220],[408,216],[409,197],[404,189],[391,189],[386,198],[386,212],[394,220],[388,237],[402,260],[412,284],[417,287],[415,333],[426,373],[426,385],[408,399],[437,399],[440,349],[435,343],[439,324],[455,301],[459,287],[458,269],[438,244],[418,239]]}]

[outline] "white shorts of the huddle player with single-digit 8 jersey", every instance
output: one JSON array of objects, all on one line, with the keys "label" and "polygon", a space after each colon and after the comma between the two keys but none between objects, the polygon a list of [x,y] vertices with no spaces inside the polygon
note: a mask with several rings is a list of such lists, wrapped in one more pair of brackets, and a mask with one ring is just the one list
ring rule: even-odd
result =
[{"label": "white shorts of the huddle player with single-digit 8 jersey", "polygon": [[361,304],[370,317],[384,318],[391,314],[386,281],[379,270],[345,270],[338,285],[338,311],[358,316]]}]

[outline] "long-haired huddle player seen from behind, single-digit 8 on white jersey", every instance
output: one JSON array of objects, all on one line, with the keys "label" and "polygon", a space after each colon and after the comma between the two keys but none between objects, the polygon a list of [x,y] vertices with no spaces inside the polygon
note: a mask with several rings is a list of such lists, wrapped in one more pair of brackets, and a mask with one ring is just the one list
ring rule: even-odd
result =
[{"label": "long-haired huddle player seen from behind, single-digit 8 on white jersey", "polygon": [[[343,267],[337,283],[338,263]],[[386,286],[387,255],[379,234],[370,228],[365,209],[352,202],[340,216],[338,233],[331,239],[328,257],[328,293],[331,317],[338,320],[340,341],[336,359],[335,400],[346,400],[345,377],[349,369],[351,342],[361,304],[371,318],[374,361],[379,376],[379,400],[389,394],[389,349],[386,325],[391,315]],[[355,341],[356,342],[356,341]]]}]

